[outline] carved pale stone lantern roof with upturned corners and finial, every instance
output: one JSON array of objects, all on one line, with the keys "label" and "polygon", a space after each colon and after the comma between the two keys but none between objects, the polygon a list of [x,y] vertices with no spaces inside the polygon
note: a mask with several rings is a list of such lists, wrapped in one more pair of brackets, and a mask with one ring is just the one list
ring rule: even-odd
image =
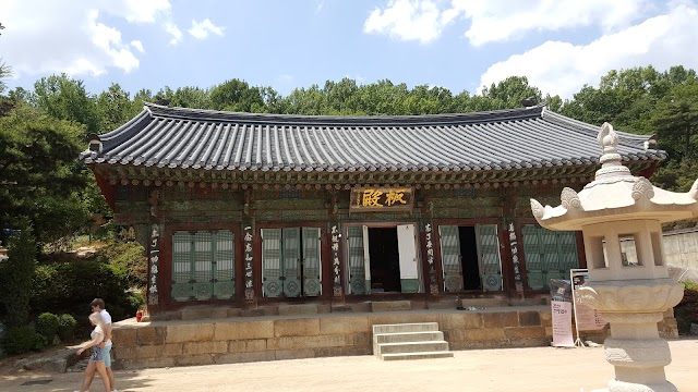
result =
[{"label": "carved pale stone lantern roof with upturned corners and finial", "polygon": [[630,174],[621,163],[618,136],[611,124],[601,126],[597,139],[603,154],[593,182],[579,193],[565,187],[557,207],[543,207],[531,199],[531,210],[542,226],[579,231],[585,225],[609,221],[642,219],[664,223],[698,217],[698,181],[687,193],[658,188],[649,180]]}]

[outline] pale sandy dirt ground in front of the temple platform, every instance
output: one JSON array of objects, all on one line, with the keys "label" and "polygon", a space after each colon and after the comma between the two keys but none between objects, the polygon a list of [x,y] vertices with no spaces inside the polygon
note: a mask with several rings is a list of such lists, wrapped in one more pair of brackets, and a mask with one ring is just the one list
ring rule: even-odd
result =
[{"label": "pale sandy dirt ground in front of the temple platform", "polygon": [[[698,392],[698,339],[670,342],[666,377]],[[613,367],[603,348],[507,348],[455,352],[454,358],[383,362],[374,356],[275,360],[117,371],[119,391],[535,391],[604,388]],[[26,381],[47,384],[22,385]],[[73,391],[82,375],[3,372],[0,391]],[[101,391],[95,380],[92,391]]]}]

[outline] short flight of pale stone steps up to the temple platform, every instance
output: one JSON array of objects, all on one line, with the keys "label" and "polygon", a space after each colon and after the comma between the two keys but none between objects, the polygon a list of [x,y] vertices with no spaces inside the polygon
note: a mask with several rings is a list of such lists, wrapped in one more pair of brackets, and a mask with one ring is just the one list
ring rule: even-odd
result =
[{"label": "short flight of pale stone steps up to the temple platform", "polygon": [[454,356],[436,322],[374,324],[373,354],[383,360]]}]

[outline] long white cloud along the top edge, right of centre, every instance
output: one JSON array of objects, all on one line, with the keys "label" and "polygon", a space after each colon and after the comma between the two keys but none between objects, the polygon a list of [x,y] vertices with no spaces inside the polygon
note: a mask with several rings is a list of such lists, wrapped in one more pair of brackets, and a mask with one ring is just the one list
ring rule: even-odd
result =
[{"label": "long white cloud along the top edge, right of centre", "polygon": [[[626,26],[649,5],[647,0],[388,0],[364,22],[364,33],[387,34],[422,44],[462,19],[471,45],[506,41],[527,32],[599,26],[604,32]],[[465,29],[465,26],[464,26]]]}]

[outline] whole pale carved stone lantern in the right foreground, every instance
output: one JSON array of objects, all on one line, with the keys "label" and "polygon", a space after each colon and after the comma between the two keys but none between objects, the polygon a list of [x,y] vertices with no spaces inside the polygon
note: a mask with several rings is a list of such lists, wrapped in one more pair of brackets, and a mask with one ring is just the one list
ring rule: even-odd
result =
[{"label": "whole pale carved stone lantern in the right foreground", "polygon": [[669,279],[662,223],[698,216],[698,181],[687,193],[654,187],[621,163],[610,124],[598,140],[603,154],[594,181],[579,193],[564,188],[557,207],[531,199],[531,209],[543,228],[583,234],[589,284],[578,297],[611,324],[604,354],[615,379],[609,391],[676,391],[666,381],[671,352],[657,323],[682,299],[684,286]]}]

